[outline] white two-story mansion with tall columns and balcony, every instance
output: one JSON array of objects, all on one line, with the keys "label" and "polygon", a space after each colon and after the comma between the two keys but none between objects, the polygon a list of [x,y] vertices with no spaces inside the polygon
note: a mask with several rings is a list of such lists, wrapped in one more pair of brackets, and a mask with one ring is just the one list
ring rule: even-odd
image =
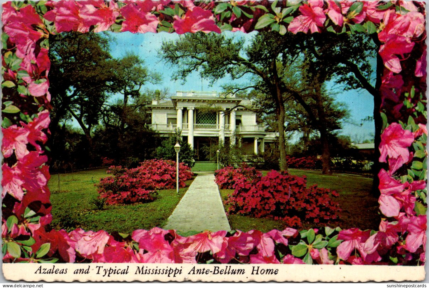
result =
[{"label": "white two-story mansion with tall columns and balcony", "polygon": [[[178,91],[171,100],[159,100],[157,95],[148,107],[152,113],[152,129],[161,136],[181,130],[182,136],[196,149],[197,161],[207,161],[204,146],[235,143],[238,139],[243,155],[260,155],[265,143],[275,140],[278,133],[266,132],[264,125],[257,124],[256,113],[245,108],[251,106],[250,100],[231,94]],[[246,156],[243,160],[247,160]]]}]

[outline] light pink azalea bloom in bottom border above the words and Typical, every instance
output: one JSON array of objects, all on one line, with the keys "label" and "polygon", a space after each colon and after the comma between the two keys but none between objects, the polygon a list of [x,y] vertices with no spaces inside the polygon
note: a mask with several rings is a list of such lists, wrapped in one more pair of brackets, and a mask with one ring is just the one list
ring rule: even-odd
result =
[{"label": "light pink azalea bloom in bottom border above the words and Typical", "polygon": [[112,236],[103,230],[85,232],[76,242],[75,249],[83,257],[92,258],[92,254],[103,254],[110,237]]}]

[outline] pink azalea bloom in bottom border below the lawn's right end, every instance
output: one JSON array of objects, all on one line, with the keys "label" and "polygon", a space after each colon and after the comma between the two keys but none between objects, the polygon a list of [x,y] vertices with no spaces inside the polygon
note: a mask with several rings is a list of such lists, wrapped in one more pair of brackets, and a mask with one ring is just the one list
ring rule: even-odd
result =
[{"label": "pink azalea bloom in bottom border below the lawn's right end", "polygon": [[337,247],[337,255],[343,260],[347,260],[354,250],[358,250],[362,257],[367,254],[364,251],[364,243],[369,238],[370,230],[361,231],[357,228],[341,230],[338,233],[338,240],[344,240]]}]

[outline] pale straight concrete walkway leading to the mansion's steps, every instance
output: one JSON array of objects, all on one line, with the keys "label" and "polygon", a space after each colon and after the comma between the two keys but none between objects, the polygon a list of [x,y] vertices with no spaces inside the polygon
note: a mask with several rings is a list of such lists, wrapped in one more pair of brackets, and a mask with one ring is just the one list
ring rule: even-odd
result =
[{"label": "pale straight concrete walkway leading to the mansion's steps", "polygon": [[182,232],[231,230],[212,172],[198,173],[163,228]]}]

